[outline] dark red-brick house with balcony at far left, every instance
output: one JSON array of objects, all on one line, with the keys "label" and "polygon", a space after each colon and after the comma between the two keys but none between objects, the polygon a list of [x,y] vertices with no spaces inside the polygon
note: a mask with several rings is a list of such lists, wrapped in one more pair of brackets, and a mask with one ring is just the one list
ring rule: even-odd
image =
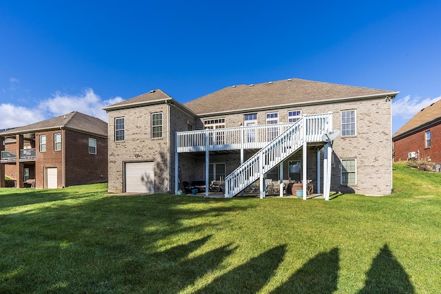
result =
[{"label": "dark red-brick house with balcony at far left", "polygon": [[107,181],[107,123],[71,112],[0,132],[0,187],[63,188]]}]

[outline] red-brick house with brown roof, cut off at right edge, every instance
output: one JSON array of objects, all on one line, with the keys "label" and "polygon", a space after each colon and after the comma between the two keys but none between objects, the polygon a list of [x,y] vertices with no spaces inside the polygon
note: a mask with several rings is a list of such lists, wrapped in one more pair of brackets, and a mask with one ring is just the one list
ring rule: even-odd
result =
[{"label": "red-brick house with brown roof, cut off at right edge", "polygon": [[441,163],[441,100],[421,109],[393,134],[394,160]]}]

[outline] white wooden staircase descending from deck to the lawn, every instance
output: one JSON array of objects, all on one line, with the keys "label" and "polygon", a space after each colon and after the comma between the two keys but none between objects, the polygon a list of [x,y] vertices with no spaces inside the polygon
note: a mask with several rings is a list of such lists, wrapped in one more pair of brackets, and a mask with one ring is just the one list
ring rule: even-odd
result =
[{"label": "white wooden staircase descending from deck to the lawn", "polygon": [[262,174],[298,151],[305,143],[321,142],[322,134],[332,129],[332,114],[302,116],[285,132],[260,149],[231,174],[225,177],[225,198],[243,191]]}]

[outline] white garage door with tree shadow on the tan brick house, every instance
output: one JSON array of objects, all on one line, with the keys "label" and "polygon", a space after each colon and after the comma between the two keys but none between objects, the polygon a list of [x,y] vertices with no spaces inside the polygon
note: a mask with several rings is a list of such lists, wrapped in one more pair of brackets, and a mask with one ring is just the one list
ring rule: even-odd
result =
[{"label": "white garage door with tree shadow on the tan brick house", "polygon": [[125,191],[154,193],[153,162],[125,163]]}]

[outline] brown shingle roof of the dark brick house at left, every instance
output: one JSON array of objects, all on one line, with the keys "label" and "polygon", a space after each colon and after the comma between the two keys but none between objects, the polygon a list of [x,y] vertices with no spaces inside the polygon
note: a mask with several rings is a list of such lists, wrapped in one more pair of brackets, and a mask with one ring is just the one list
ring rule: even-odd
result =
[{"label": "brown shingle roof of the dark brick house at left", "polygon": [[107,123],[105,121],[82,114],[81,112],[70,112],[69,114],[42,120],[38,123],[8,129],[5,132],[0,132],[0,136],[25,134],[60,127],[107,137]]}]

